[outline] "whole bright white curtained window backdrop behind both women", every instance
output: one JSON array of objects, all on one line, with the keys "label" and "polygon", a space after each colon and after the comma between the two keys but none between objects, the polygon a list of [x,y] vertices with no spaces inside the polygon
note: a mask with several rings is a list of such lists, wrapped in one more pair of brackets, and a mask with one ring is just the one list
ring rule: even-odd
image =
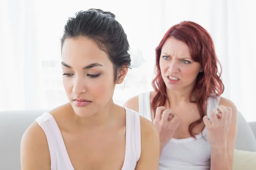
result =
[{"label": "whole bright white curtained window backdrop behind both women", "polygon": [[117,87],[116,102],[151,89],[154,49],[168,28],[191,20],[206,28],[215,42],[223,68],[223,96],[248,121],[256,120],[256,10],[250,0],[1,0],[0,111],[52,108],[67,101],[60,38],[67,18],[88,8],[116,14],[131,45],[133,69],[125,87]]}]

